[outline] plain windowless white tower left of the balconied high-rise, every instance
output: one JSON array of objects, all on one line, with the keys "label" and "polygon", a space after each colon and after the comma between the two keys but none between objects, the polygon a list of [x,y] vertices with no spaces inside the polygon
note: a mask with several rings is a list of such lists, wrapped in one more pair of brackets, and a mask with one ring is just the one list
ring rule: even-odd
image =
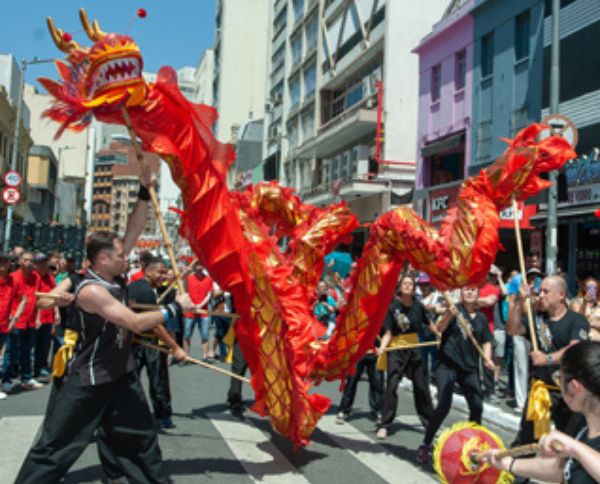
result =
[{"label": "plain windowless white tower left of the balconied high-rise", "polygon": [[269,0],[217,0],[213,105],[221,142],[264,115],[270,7]]}]

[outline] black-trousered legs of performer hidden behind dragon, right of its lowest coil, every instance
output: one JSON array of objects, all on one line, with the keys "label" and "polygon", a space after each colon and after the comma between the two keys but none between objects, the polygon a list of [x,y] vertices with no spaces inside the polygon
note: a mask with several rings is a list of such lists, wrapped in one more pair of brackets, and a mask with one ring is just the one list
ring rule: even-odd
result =
[{"label": "black-trousered legs of performer hidden behind dragon, right of its lowest coil", "polygon": [[[377,344],[377,342],[375,343]],[[360,377],[366,370],[369,378],[369,408],[371,418],[377,423],[381,421],[381,400],[383,397],[383,371],[377,369],[377,356],[373,353],[364,355],[356,364],[354,375],[346,378],[346,385],[342,393],[337,421],[343,422],[348,418],[352,411],[354,398],[356,397],[356,387]]]}]

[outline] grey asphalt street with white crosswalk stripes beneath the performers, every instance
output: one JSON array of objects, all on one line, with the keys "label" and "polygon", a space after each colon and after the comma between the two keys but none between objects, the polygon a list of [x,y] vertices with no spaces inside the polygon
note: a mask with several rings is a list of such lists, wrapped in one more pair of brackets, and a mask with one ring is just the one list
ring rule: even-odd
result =
[{"label": "grey asphalt street with white crosswalk stripes beneath the performers", "polygon": [[[355,411],[342,425],[335,421],[338,383],[322,384],[318,390],[332,398],[332,407],[319,422],[311,445],[294,451],[290,442],[274,435],[268,422],[256,414],[247,413],[243,422],[231,417],[225,405],[228,383],[226,377],[195,365],[171,367],[177,428],[162,433],[160,444],[174,482],[435,481],[433,469],[415,461],[423,429],[408,390],[399,390],[397,423],[388,440],[381,443],[368,418],[367,382],[359,385]],[[42,421],[49,390],[47,385],[0,402],[0,482],[12,482],[18,472]],[[244,398],[249,401],[251,397],[246,387]],[[462,419],[464,414],[453,409],[445,426]],[[512,439],[512,431],[492,428],[505,442]],[[90,445],[64,482],[102,482],[103,477],[96,447]]]}]

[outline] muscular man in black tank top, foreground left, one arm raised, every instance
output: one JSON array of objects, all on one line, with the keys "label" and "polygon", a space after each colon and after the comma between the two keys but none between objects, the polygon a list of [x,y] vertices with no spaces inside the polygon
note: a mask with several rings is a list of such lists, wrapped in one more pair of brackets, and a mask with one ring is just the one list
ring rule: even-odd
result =
[{"label": "muscular man in black tank top, foreground left, one arm raised", "polygon": [[91,268],[76,291],[80,327],[75,355],[62,381],[54,382],[41,436],[17,483],[58,482],[96,430],[129,481],[167,482],[154,420],[134,371],[131,333],[152,330],[195,308],[187,295],[144,313],[134,313],[124,304],[127,293],[120,274],[146,221],[149,197],[144,190],[140,189],[123,240],[110,232],[90,237]]}]

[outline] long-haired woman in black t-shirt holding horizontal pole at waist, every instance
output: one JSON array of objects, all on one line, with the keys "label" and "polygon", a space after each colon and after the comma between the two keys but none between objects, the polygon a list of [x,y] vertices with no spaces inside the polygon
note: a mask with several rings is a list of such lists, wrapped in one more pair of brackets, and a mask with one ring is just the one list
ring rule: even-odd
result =
[{"label": "long-haired woman in black t-shirt holding horizontal pole at waist", "polygon": [[404,346],[419,342],[418,332],[423,326],[433,328],[427,319],[425,307],[415,299],[415,280],[410,276],[400,279],[397,299],[394,299],[383,323],[383,337],[377,348],[380,357],[387,355],[387,386],[383,394],[381,424],[378,439],[387,438],[389,428],[396,416],[398,384],[407,376],[413,383],[413,398],[419,419],[427,426],[433,405],[429,392],[429,376],[420,349],[385,352],[390,346]]}]

